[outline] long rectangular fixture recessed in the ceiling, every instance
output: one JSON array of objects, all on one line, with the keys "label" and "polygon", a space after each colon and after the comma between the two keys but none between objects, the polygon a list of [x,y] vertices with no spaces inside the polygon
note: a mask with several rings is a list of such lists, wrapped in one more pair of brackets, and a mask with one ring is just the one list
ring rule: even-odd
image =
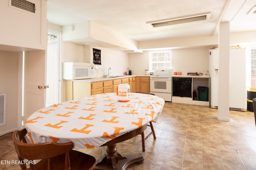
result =
[{"label": "long rectangular fixture recessed in the ceiling", "polygon": [[146,23],[150,23],[153,27],[163,27],[168,25],[177,25],[181,23],[188,23],[194,21],[203,21],[210,18],[210,12],[204,14],[196,14],[190,16],[181,16],[177,18],[168,18],[164,20],[155,20],[155,21],[148,21]]}]

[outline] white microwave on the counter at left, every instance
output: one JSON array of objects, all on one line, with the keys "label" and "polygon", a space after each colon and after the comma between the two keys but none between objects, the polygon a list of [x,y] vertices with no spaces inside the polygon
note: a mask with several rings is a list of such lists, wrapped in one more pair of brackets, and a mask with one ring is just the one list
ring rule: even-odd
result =
[{"label": "white microwave on the counter at left", "polygon": [[93,78],[94,68],[90,63],[63,63],[63,79],[64,80],[77,80]]}]

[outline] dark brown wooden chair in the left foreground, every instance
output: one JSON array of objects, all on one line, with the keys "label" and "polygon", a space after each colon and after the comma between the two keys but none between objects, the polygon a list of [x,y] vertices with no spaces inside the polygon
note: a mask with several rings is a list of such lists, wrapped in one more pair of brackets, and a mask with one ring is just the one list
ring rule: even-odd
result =
[{"label": "dark brown wooden chair in the left foreground", "polygon": [[[73,143],[27,143],[26,129],[14,131],[12,139],[22,170],[92,170],[96,166],[96,159],[88,154],[72,150]],[[24,161],[25,160],[25,161]],[[40,160],[39,162],[35,160]]]}]

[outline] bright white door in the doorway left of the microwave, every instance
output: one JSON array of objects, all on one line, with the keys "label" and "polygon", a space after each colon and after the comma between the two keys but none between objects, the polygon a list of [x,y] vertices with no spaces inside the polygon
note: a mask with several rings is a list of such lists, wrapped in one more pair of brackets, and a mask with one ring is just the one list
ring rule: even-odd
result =
[{"label": "bright white door in the doorway left of the microwave", "polygon": [[59,53],[58,42],[50,42],[47,46],[47,80],[46,107],[59,103]]}]

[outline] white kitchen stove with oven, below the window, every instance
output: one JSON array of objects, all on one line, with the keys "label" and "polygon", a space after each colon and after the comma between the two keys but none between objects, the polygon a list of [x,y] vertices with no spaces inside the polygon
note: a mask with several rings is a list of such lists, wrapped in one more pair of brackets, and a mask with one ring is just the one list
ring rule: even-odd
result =
[{"label": "white kitchen stove with oven, below the window", "polygon": [[150,93],[172,102],[173,69],[155,69],[154,76],[150,76]]}]

